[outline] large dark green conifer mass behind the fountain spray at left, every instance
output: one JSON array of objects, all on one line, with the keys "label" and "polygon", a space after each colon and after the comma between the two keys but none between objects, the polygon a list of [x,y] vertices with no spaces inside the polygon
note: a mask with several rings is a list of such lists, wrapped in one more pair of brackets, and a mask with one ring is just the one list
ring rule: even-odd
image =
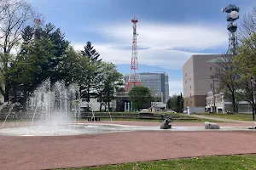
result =
[{"label": "large dark green conifer mass behind the fountain spray at left", "polygon": [[26,99],[38,84],[47,78],[52,83],[64,78],[61,65],[65,64],[69,42],[60,29],[55,30],[51,24],[44,28],[26,26],[20,36],[20,53],[9,62],[9,95],[14,97],[14,102],[20,101],[25,106]]}]

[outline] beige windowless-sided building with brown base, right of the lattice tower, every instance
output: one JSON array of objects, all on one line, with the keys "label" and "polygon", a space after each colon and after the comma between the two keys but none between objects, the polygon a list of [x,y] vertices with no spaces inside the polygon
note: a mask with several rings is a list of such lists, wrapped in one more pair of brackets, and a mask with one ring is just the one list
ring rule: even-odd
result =
[{"label": "beige windowless-sided building with brown base, right of the lattice tower", "polygon": [[[188,107],[205,108],[207,92],[213,90],[211,76],[214,75],[214,59],[219,54],[192,55],[183,65],[184,109]],[[217,89],[217,84],[215,84]]]}]

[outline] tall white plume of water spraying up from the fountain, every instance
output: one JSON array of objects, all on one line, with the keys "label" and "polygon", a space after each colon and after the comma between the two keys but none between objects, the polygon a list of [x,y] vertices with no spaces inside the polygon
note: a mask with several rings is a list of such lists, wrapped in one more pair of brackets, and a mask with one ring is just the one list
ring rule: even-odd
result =
[{"label": "tall white plume of water spraying up from the fountain", "polygon": [[76,112],[79,105],[73,105],[79,99],[79,87],[71,84],[67,88],[65,82],[55,82],[51,86],[49,80],[43,82],[33,93],[30,99],[31,109],[34,110],[32,124],[35,118],[49,125],[67,125],[72,118],[77,118]]}]

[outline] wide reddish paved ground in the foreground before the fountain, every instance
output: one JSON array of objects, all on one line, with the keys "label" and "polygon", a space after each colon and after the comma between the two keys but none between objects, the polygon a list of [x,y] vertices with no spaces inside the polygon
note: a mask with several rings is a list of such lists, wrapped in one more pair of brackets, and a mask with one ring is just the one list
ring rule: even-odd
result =
[{"label": "wide reddish paved ground in the foreground before the fountain", "polygon": [[[256,153],[255,132],[127,132],[0,135],[0,169],[90,167],[132,161]],[[172,167],[170,167],[172,168]]]}]

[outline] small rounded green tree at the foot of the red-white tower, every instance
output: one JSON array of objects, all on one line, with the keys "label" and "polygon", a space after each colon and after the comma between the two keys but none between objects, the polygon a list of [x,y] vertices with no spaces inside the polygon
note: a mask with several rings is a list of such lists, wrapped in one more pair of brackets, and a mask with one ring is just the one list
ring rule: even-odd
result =
[{"label": "small rounded green tree at the foot of the red-white tower", "polygon": [[150,89],[147,87],[131,88],[128,93],[128,99],[132,102],[134,108],[140,110],[144,104],[148,104],[151,100]]}]

